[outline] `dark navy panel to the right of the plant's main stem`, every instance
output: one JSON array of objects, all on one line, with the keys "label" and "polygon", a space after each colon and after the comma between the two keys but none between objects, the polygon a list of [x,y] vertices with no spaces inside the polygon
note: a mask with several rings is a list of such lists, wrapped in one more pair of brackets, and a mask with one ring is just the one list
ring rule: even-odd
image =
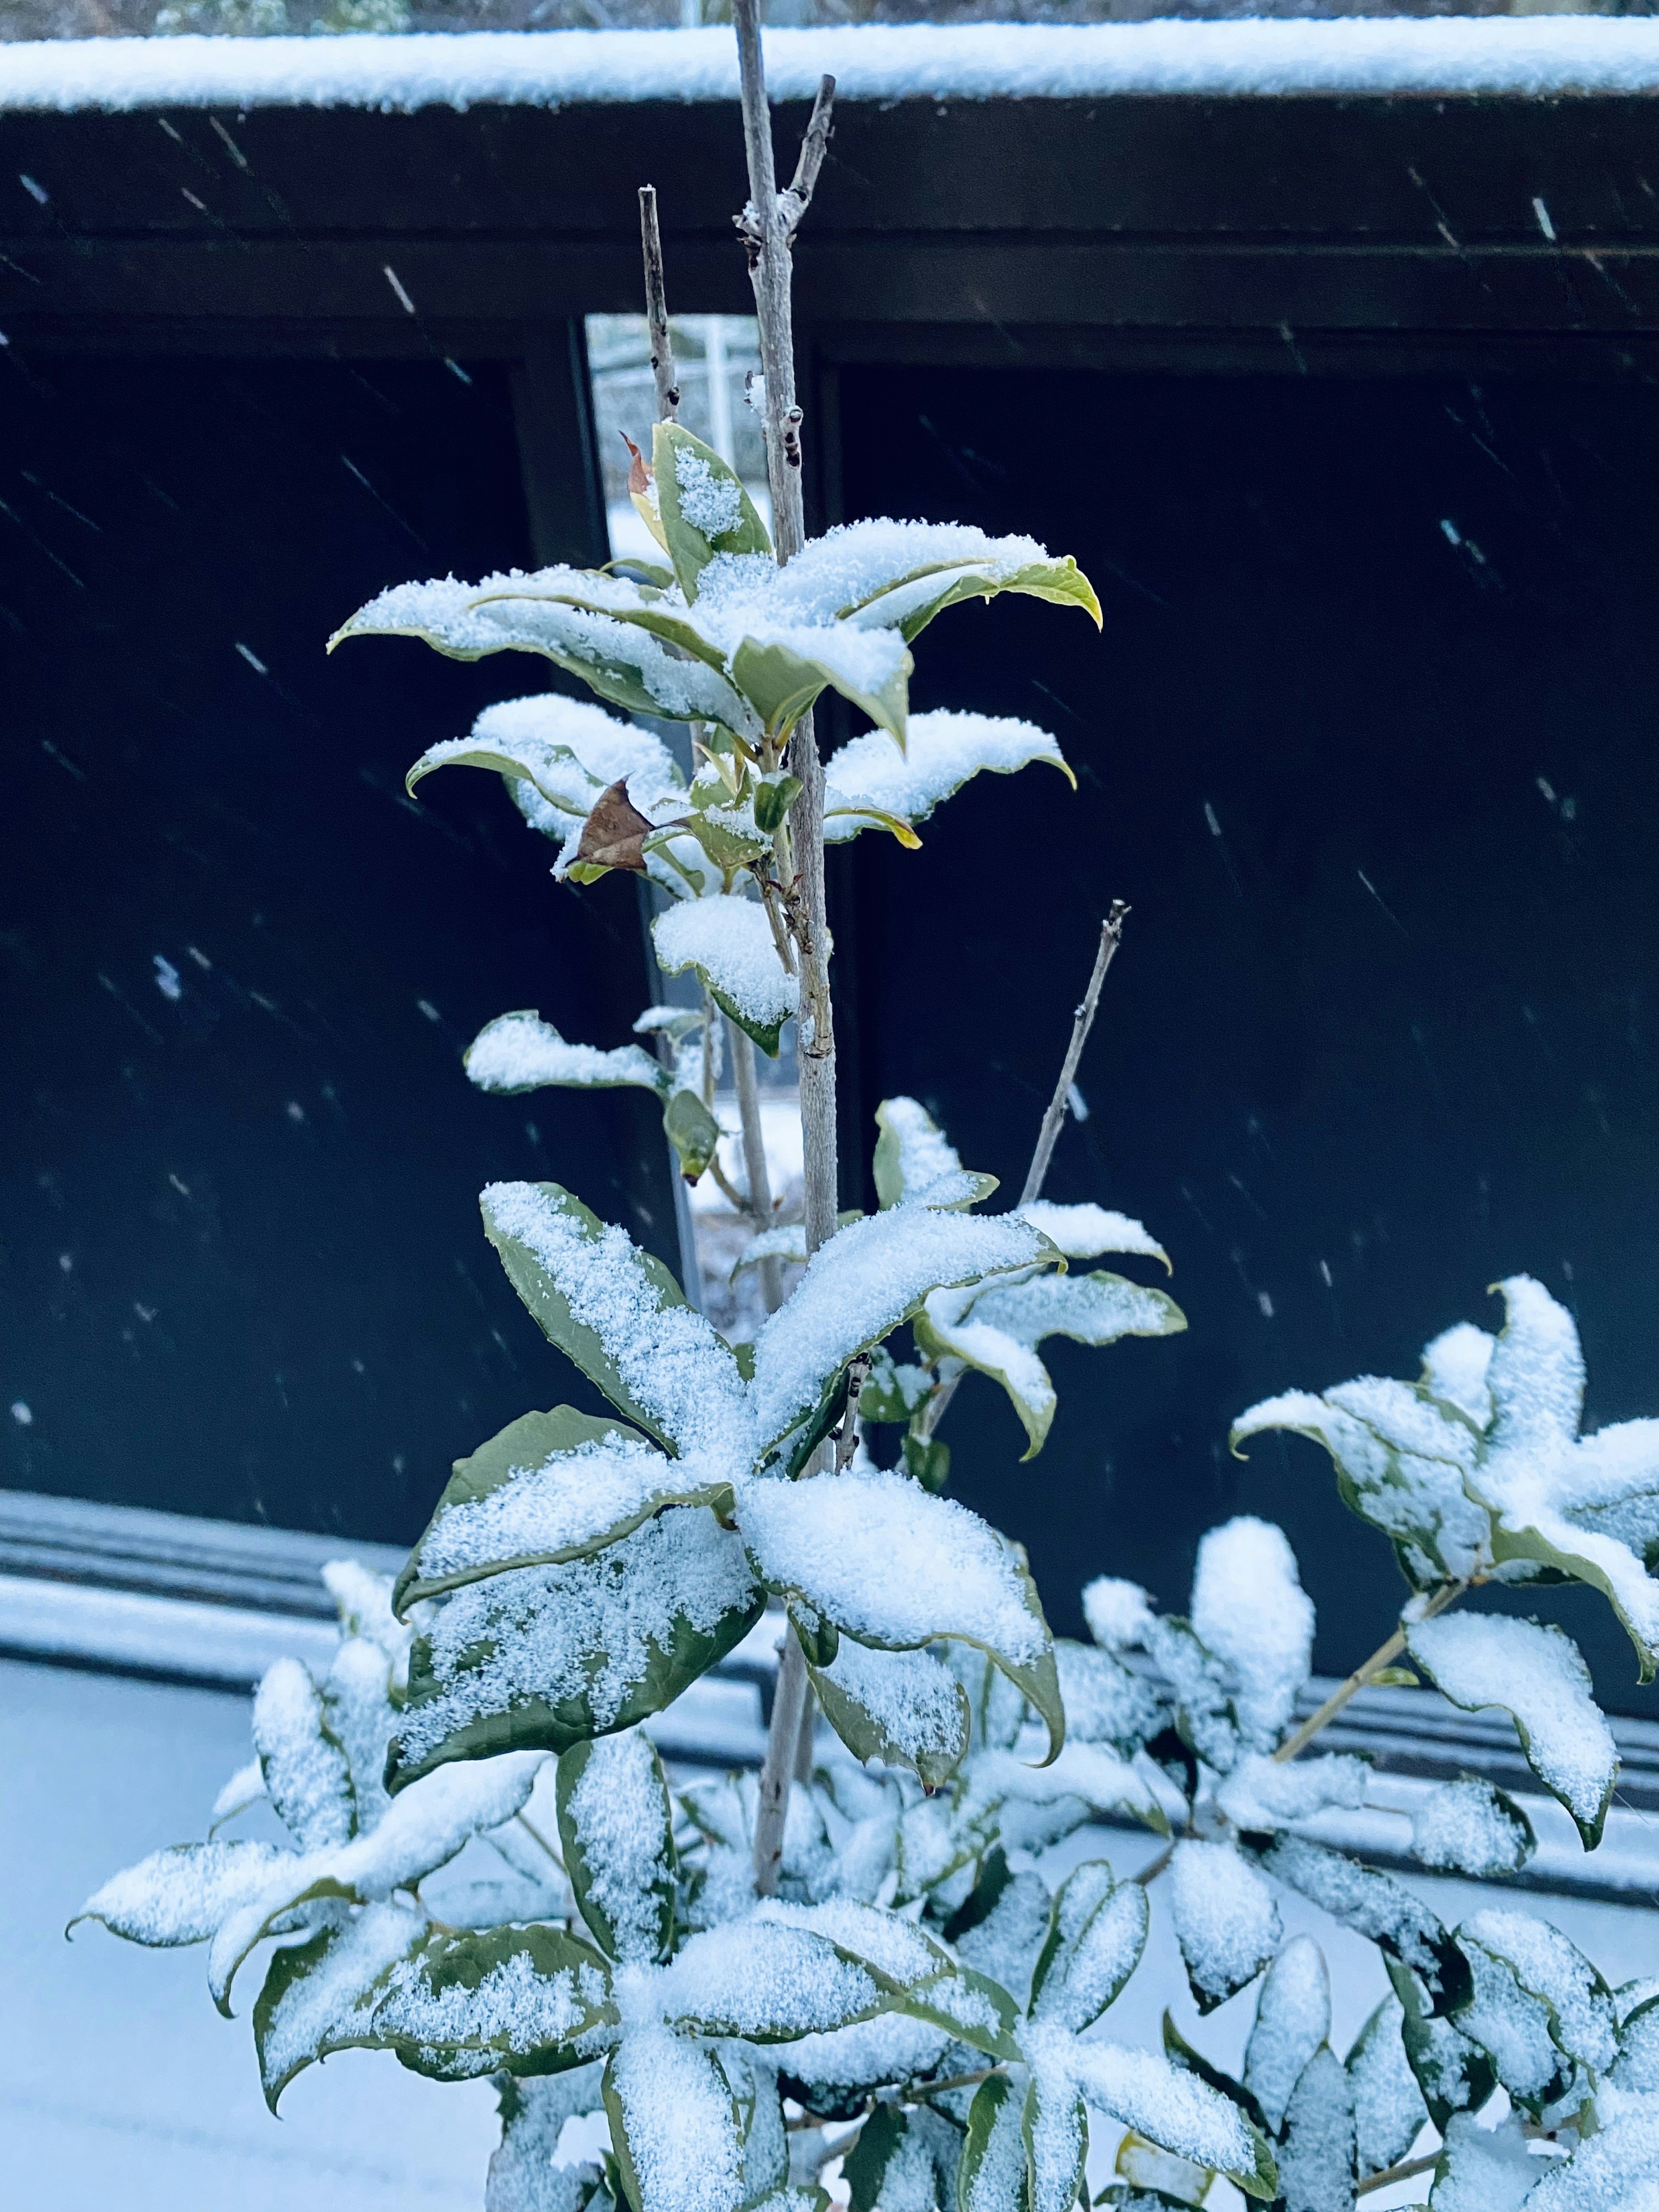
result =
[{"label": "dark navy panel to the right of the plant's main stem", "polygon": [[[1077,553],[1104,639],[1029,602],[942,617],[916,706],[1024,714],[920,854],[856,858],[860,1091],[914,1091],[1020,1183],[1099,916],[1133,902],[1055,1199],[1139,1214],[1190,1334],[1048,1347],[1018,1467],[1000,1394],[958,1493],[1026,1540],[1057,1626],[1099,1571],[1186,1599],[1199,1533],[1281,1520],[1354,1666],[1400,1584],[1252,1400],[1416,1374],[1486,1285],[1577,1314],[1588,1418],[1659,1411],[1659,418],[1595,383],[845,372],[845,511]],[[852,922],[852,918],[849,918]],[[1630,1648],[1571,1624],[1617,1703]]]}]

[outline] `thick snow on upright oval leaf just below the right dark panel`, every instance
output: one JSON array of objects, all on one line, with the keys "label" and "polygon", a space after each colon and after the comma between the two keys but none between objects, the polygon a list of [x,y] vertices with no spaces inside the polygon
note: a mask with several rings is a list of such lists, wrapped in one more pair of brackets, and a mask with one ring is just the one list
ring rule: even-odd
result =
[{"label": "thick snow on upright oval leaf just below the right dark panel", "polygon": [[1314,1659],[1314,1601],[1283,1528],[1241,1513],[1199,1540],[1192,1626],[1232,1670],[1245,1743],[1272,1752]]}]

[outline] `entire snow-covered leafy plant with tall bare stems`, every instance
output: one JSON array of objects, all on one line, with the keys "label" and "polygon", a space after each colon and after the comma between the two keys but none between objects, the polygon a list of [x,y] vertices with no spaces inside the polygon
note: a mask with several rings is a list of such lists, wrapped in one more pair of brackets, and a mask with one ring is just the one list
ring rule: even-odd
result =
[{"label": "entire snow-covered leafy plant with tall bare stems", "polygon": [[[1310,1832],[1365,1805],[1369,1772],[1303,1754],[1409,1657],[1455,1703],[1513,1712],[1542,1785],[1599,1840],[1615,1752],[1577,1648],[1449,1610],[1482,1584],[1577,1579],[1655,1668],[1659,1422],[1577,1433],[1577,1334],[1537,1283],[1502,1285],[1502,1336],[1436,1338],[1416,1385],[1365,1378],[1239,1420],[1234,1444],[1316,1438],[1411,1586],[1398,1632],[1307,1719],[1314,1608],[1281,1531],[1212,1531],[1186,1617],[1093,1582],[1093,1641],[1073,1644],[1051,1637],[1020,1546],[940,1495],[936,1431],[964,1376],[1009,1391],[1031,1455],[1055,1411],[1046,1336],[1186,1325],[1164,1292],[1071,1265],[1168,1265],[1137,1221],[1040,1197],[1117,916],[1020,1201],[984,1212],[995,1179],[900,1097],[878,1113],[878,1210],[838,1219],[823,841],[874,825],[914,845],[973,774],[1064,768],[1026,723],[907,712],[909,648],[933,615],[1000,591],[1099,611],[1075,564],[1029,540],[869,522],[801,542],[779,268],[827,93],[779,192],[754,0],[734,13],[779,557],[737,476],[672,420],[659,356],[666,414],[635,489],[664,566],[403,586],[341,635],[540,653],[611,706],[690,726],[686,781],[635,723],[522,699],[422,754],[411,785],[445,763],[491,768],[557,836],[555,876],[619,869],[666,894],[659,962],[706,991],[701,1011],[637,1024],[666,1062],[509,1013],[467,1064],[493,1091],[644,1084],[697,1177],[721,1135],[719,1013],[768,1318],[728,1343],[560,1183],[484,1190],[509,1281],[615,1413],[529,1411],[456,1462],[396,1582],[332,1566],[327,1677],[272,1668],[254,1763],[206,1840],[106,1882],[82,1918],[206,1944],[221,2011],[276,1940],[254,2002],[272,2106],[345,2048],[436,2079],[493,2075],[491,2212],[823,2212],[836,2161],[852,2212],[1071,2212],[1091,2201],[1091,2115],[1117,2146],[1106,2192],[1137,2212],[1214,2203],[1228,2183],[1340,2212],[1429,2168],[1440,2212],[1652,2203],[1659,1986],[1608,1991],[1520,1911],[1447,1929],[1402,1880]],[[874,723],[830,763],[812,737],[825,688]],[[805,1221],[765,1199],[743,1060],[774,1053],[792,1018]],[[785,1259],[803,1270],[787,1301]],[[883,1427],[900,1429],[894,1464],[872,1455]],[[653,1719],[768,1606],[761,1774],[670,1776]],[[219,1834],[259,1805],[288,1843]],[[1130,1878],[1075,1843],[1055,1854],[1104,1818],[1166,1840]],[[1478,1876],[1513,1874],[1533,1847],[1524,1812],[1478,1778],[1429,1792],[1400,1838],[1400,1856]],[[1343,2059],[1323,1955],[1305,1933],[1283,1940],[1287,1893],[1387,1966]],[[1259,1984],[1241,2077],[1168,2015],[1161,2051],[1102,2033],[1164,1900],[1201,2015]],[[597,2159],[562,2154],[573,2119],[597,2124]],[[1413,2159],[1427,2130],[1436,2146]]]}]

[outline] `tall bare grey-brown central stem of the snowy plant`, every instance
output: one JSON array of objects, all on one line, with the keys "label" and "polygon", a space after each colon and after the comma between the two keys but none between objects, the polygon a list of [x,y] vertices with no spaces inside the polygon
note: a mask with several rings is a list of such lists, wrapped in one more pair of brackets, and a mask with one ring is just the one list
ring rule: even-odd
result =
[{"label": "tall bare grey-brown central stem of the snowy plant", "polygon": [[[801,500],[801,407],[794,396],[794,312],[790,301],[790,241],[812,199],[830,142],[834,77],[825,77],[801,144],[794,181],[779,192],[772,157],[772,108],[765,97],[759,0],[732,0],[737,58],[743,82],[743,150],[750,199],[737,219],[754,285],[765,374],[765,473],[772,487],[772,544],[779,566],[805,544]],[[823,898],[823,763],[803,714],[790,732],[790,774],[801,792],[790,810],[794,883],[787,885],[790,933],[801,956],[801,1018],[796,1064],[801,1075],[801,1155],[805,1168],[807,1256],[836,1232],[836,1033],[830,1013],[830,927]],[[790,1778],[801,1741],[801,1708],[807,1663],[794,1628],[785,1632],[779,1686],[772,1697],[772,1730],[761,1767],[761,1801],[754,1816],[754,1887],[776,1896],[783,1871],[783,1823],[790,1812]]]}]

